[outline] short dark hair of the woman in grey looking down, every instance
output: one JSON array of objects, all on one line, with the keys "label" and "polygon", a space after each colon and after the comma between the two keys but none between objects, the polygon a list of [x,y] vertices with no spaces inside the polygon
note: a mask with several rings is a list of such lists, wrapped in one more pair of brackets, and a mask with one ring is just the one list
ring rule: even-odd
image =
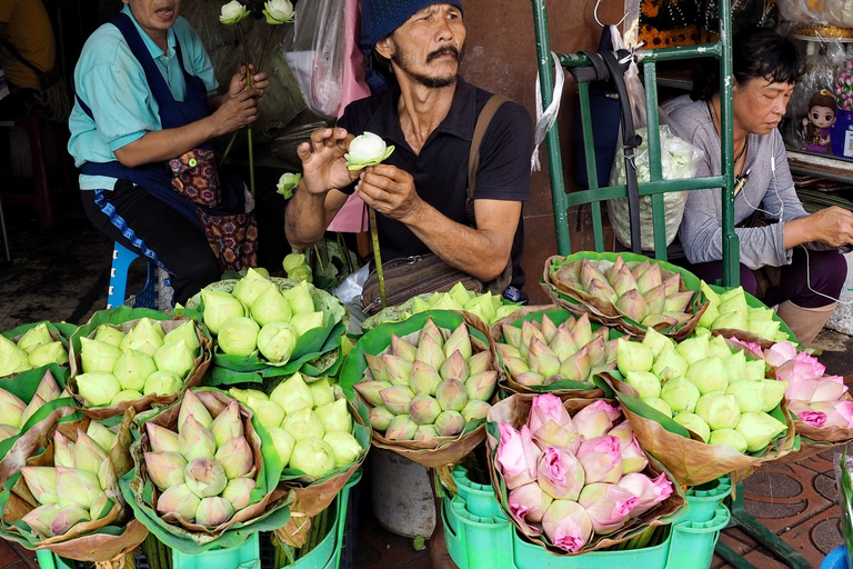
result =
[{"label": "short dark hair of the woman in grey looking down", "polygon": [[[732,38],[732,73],[739,84],[752,79],[795,83],[803,74],[803,60],[794,43],[770,28],[745,28]],[[693,100],[709,100],[720,91],[720,61],[703,58],[693,74]]]}]

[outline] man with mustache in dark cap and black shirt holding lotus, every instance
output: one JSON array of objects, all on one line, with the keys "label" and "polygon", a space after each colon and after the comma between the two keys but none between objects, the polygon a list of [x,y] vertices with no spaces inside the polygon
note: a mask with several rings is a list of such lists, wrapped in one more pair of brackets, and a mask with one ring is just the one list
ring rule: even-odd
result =
[{"label": "man with mustache in dark cap and black shirt holding lotus", "polygon": [[[480,144],[470,216],[469,152],[491,93],[459,76],[461,2],[373,0],[365,8],[371,43],[390,62],[397,84],[351,103],[337,128],[317,130],[299,147],[303,178],[288,206],[288,240],[298,249],[318,242],[355,191],[378,213],[383,261],[432,252],[489,282],[509,276],[512,253],[512,287],[504,296],[518,299],[524,282],[521,206],[530,193],[528,112],[511,101],[498,108]],[[395,150],[384,163],[349,171],[344,153],[365,131]]]}]

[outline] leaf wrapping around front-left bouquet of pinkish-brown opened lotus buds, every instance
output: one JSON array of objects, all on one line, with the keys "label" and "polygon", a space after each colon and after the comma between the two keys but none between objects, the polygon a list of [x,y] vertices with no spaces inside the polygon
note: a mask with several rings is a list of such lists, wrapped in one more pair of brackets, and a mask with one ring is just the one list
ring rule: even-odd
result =
[{"label": "leaf wrapping around front-left bouquet of pinkish-brown opened lotus buds", "polygon": [[[215,418],[233,400],[227,393],[215,389],[192,390],[204,407]],[[213,529],[187,522],[177,513],[161,516],[157,509],[157,500],[161,491],[153,485],[145,467],[144,452],[150,450],[148,432],[144,423],[154,425],[178,431],[178,413],[183,398],[171,406],[152,409],[137,418],[134,437],[130,446],[130,455],[134,469],[124,475],[119,481],[122,496],[133,509],[136,518],[147,527],[161,542],[182,553],[198,555],[213,547],[234,547],[241,545],[247,536],[255,531],[272,531],[288,521],[289,505],[292,496],[277,489],[281,473],[281,460],[275,451],[269,433],[253,419],[253,413],[240,405],[240,418],[243,422],[245,439],[252,448],[254,457],[255,488],[251,491],[249,506],[234,512],[224,523]]]}]

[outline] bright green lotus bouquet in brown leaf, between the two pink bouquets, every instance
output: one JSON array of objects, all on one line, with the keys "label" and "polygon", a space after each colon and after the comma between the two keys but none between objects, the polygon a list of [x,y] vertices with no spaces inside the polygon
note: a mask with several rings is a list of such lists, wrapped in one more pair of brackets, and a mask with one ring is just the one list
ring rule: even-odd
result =
[{"label": "bright green lotus bouquet in brown leaf, between the two pink bouquets", "polygon": [[679,483],[723,475],[736,482],[791,451],[795,430],[786,383],[740,343],[708,333],[675,342],[648,330],[619,339],[619,371],[608,373],[640,445]]}]

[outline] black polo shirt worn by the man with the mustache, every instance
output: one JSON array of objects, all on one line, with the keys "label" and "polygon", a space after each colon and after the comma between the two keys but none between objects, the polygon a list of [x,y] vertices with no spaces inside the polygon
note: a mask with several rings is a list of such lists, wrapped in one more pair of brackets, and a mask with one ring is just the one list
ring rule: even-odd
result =
[{"label": "black polo shirt worn by the man with the mustache", "polygon": [[[412,151],[400,128],[398,86],[350,103],[338,126],[357,136],[365,131],[373,132],[382,137],[385,143],[393,144],[395,149],[384,163],[409,172],[414,178],[414,187],[421,199],[453,221],[466,226],[468,158],[476,117],[490,97],[491,93],[460,77],[448,116],[430,134],[420,154]],[[474,199],[530,199],[532,148],[533,126],[528,111],[512,101],[503,103],[492,118],[480,146]],[[347,190],[352,192],[352,188]],[[377,217],[377,226],[384,261],[429,252],[428,247],[404,223],[380,214]],[[513,266],[518,266],[521,259],[521,222],[515,241]],[[513,284],[521,288],[523,281],[516,283],[515,280]]]}]

